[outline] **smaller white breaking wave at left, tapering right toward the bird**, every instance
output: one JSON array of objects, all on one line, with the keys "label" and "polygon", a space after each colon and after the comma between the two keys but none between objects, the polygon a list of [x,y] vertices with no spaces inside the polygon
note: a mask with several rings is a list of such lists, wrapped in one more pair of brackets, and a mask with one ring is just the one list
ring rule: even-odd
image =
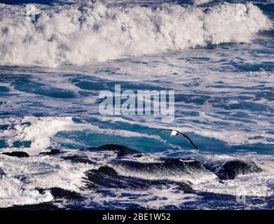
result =
[{"label": "smaller white breaking wave at left, tapering right toward the bird", "polygon": [[[149,136],[148,134],[140,134],[138,132],[130,132],[126,130],[111,130],[101,129],[92,124],[74,123],[71,117],[25,117],[25,118],[6,118],[0,119],[1,124],[12,124],[11,128],[0,132],[0,138],[7,139],[9,148],[4,148],[5,151],[14,151],[14,141],[30,141],[30,148],[21,148],[22,151],[27,151],[30,155],[36,155],[44,151],[50,146],[55,146],[53,137],[58,132],[71,131],[87,131],[97,134],[109,134],[121,137],[146,137],[163,141],[160,137]],[[163,141],[164,142],[164,141]]]}]

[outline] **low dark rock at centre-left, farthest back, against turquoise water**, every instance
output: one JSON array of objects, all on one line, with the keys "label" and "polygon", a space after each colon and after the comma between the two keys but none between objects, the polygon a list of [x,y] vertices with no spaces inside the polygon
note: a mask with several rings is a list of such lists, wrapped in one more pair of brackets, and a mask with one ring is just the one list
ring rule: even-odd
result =
[{"label": "low dark rock at centre-left, farthest back, against turquoise water", "polygon": [[142,155],[141,152],[136,151],[135,149],[128,148],[126,146],[120,146],[116,144],[107,144],[99,147],[91,147],[86,149],[81,149],[81,151],[116,151],[118,153],[118,157],[125,155],[138,154]]}]

